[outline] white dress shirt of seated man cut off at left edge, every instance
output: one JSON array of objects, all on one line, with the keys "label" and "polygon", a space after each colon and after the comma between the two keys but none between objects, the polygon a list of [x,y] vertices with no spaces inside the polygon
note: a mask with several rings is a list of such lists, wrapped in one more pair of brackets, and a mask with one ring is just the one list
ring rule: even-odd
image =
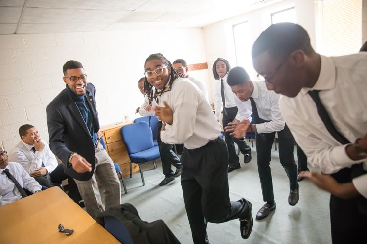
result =
[{"label": "white dress shirt of seated man cut off at left edge", "polygon": [[18,188],[5,174],[5,169],[9,169],[9,172],[14,176],[22,188],[32,193],[41,190],[41,185],[36,182],[33,177],[30,177],[19,163],[9,162],[5,168],[0,169],[0,206],[22,198],[22,194],[19,192]]}]

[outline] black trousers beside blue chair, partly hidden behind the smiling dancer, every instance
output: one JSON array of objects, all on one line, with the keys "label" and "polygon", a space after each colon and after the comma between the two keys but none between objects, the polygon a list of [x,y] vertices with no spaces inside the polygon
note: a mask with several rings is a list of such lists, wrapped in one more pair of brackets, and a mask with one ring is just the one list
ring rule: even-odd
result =
[{"label": "black trousers beside blue chair, partly hidden behind the smiling dancer", "polygon": [[161,136],[160,136],[161,128],[162,128],[162,122],[159,121],[158,124],[157,124],[157,129],[158,129],[158,135],[157,135],[158,149],[159,149],[160,155],[161,155],[163,174],[166,177],[169,177],[169,176],[173,176],[174,175],[174,172],[172,171],[171,165],[175,166],[176,168],[181,168],[182,167],[182,164],[180,163],[180,158],[172,150],[172,145],[166,144],[166,143],[162,142]]}]

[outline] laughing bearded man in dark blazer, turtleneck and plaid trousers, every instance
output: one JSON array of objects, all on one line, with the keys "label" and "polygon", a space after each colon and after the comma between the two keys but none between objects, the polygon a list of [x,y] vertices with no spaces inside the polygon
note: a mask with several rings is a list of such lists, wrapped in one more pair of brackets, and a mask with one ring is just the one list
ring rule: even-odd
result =
[{"label": "laughing bearded man in dark blazer, turtleneck and plaid trousers", "polygon": [[[47,106],[47,125],[52,152],[74,178],[87,212],[99,213],[121,202],[121,186],[110,156],[99,143],[95,87],[87,83],[83,65],[74,60],[63,66],[66,88]],[[96,179],[102,185],[105,207]]]}]

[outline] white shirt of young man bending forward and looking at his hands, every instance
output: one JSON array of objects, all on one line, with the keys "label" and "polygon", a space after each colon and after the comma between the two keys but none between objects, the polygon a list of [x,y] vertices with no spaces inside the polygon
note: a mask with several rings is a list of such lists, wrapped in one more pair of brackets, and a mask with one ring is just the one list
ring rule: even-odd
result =
[{"label": "white shirt of young man bending forward and looking at his hands", "polygon": [[[253,92],[251,97],[256,104],[257,113],[261,119],[270,121],[265,123],[257,123],[255,121],[257,133],[271,133],[283,130],[285,122],[279,109],[280,95],[274,91],[269,91],[263,81],[252,81],[252,84]],[[251,122],[252,107],[250,99],[241,102],[236,96],[235,102],[238,107],[236,118],[240,121],[247,119]]]}]

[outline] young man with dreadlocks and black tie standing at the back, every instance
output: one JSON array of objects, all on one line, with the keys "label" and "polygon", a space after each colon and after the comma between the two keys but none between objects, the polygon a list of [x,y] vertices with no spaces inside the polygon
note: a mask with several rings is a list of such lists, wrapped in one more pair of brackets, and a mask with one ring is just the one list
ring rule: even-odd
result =
[{"label": "young man with dreadlocks and black tie standing at the back", "polygon": [[[230,86],[227,84],[227,74],[229,70],[229,62],[223,58],[218,58],[213,64],[213,75],[215,79],[215,115],[219,121],[223,104],[223,128],[225,128],[228,123],[235,121],[238,112],[238,108],[234,102],[234,94],[231,91]],[[236,149],[234,148],[234,142],[236,142],[241,153],[244,155],[243,163],[249,163],[251,161],[251,148],[246,144],[245,139],[233,138],[229,134],[230,133],[228,132],[224,132],[224,140],[227,143],[229,155],[228,173],[241,168]]]}]

